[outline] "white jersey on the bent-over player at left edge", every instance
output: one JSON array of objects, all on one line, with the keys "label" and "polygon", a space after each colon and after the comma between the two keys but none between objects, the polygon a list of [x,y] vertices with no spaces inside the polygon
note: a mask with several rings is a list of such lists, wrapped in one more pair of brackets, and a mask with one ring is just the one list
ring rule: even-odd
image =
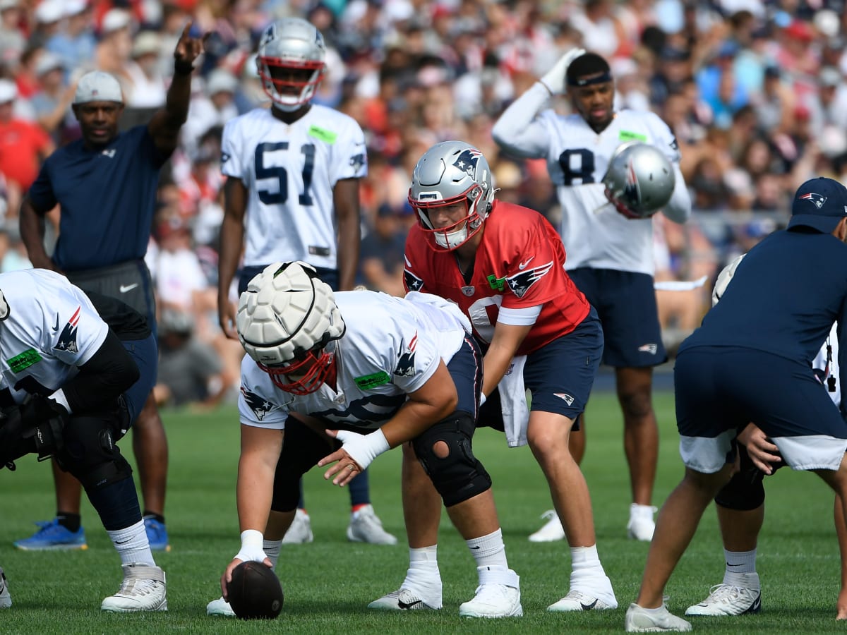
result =
[{"label": "white jersey on the bent-over player at left edge", "polygon": [[85,293],[47,269],[0,274],[8,317],[0,322],[0,389],[15,403],[52,395],[106,340],[108,325]]}]

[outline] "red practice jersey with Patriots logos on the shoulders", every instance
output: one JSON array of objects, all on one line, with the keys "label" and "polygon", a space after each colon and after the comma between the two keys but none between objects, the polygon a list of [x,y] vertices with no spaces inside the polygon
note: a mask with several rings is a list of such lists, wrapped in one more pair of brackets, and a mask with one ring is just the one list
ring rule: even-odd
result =
[{"label": "red practice jersey with Patriots logos on the shoulders", "polygon": [[495,201],[468,283],[456,257],[450,251],[434,251],[417,224],[406,239],[403,282],[407,291],[424,291],[456,302],[485,344],[494,335],[501,306],[542,305],[518,348],[518,355],[526,355],[573,331],[590,312],[564,266],[565,247],[546,218],[527,207]]}]

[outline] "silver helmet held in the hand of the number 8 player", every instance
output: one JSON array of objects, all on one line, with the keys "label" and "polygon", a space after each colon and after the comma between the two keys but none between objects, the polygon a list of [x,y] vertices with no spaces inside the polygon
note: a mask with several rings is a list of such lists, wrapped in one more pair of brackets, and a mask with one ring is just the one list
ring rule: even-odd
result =
[{"label": "silver helmet held in the hand of the number 8 player", "polygon": [[676,177],[658,148],[630,141],[612,155],[603,185],[618,212],[627,218],[650,218],[671,200]]}]

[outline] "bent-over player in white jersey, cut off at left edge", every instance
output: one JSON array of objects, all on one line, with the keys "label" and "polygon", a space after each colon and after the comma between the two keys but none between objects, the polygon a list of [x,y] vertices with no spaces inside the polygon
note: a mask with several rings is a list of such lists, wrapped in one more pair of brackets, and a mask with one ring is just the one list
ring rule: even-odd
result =
[{"label": "bent-over player in white jersey, cut off at left edge", "polygon": [[0,350],[0,468],[14,469],[30,453],[55,457],[82,483],[124,568],[120,590],[101,609],[168,610],[132,468],[115,444],[155,378],[156,341],[146,320],[113,298],[89,299],[46,269],[3,273]]}]

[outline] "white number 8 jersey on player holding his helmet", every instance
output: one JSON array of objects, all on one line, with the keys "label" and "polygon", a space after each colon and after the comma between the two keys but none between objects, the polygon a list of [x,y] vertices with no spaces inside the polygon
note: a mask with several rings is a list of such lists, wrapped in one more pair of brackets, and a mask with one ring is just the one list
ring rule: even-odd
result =
[{"label": "white number 8 jersey on player holding his helmet", "polygon": [[606,201],[602,178],[617,146],[641,141],[679,163],[676,138],[655,113],[622,110],[597,134],[579,114],[539,114],[550,140],[547,169],[562,204],[566,269],[591,267],[635,273],[654,271],[653,221],[631,220]]}]

